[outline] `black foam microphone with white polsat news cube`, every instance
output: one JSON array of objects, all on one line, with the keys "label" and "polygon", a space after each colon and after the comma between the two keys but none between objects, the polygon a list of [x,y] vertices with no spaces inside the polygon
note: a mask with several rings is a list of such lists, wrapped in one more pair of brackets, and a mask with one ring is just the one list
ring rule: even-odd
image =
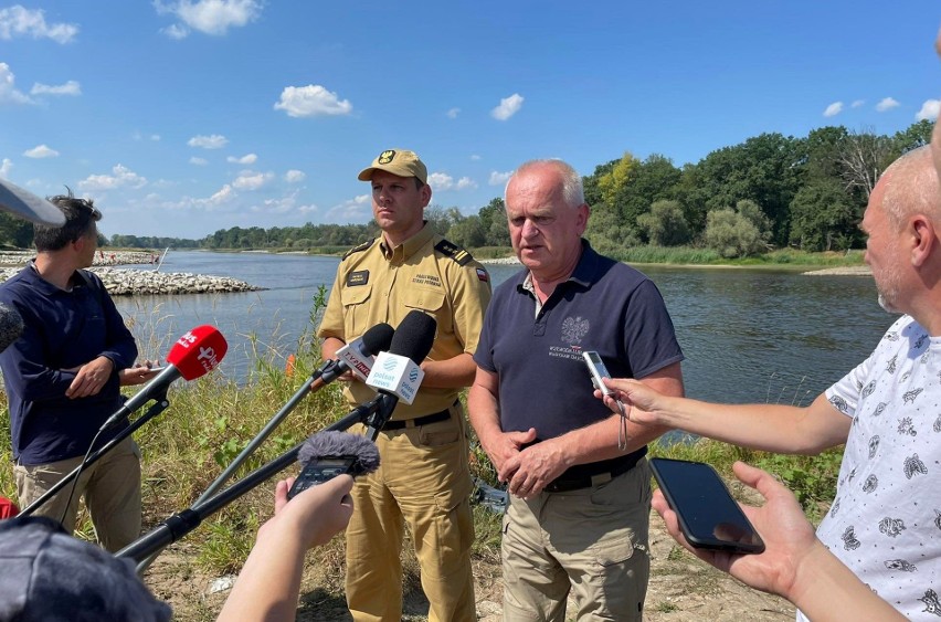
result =
[{"label": "black foam microphone with white polsat news cube", "polygon": [[376,414],[367,430],[370,439],[379,434],[400,399],[406,403],[414,400],[424,378],[420,366],[434,345],[437,321],[432,316],[420,310],[409,312],[395,329],[389,351],[377,357],[366,380],[379,391],[379,397],[370,404],[376,404]]}]

